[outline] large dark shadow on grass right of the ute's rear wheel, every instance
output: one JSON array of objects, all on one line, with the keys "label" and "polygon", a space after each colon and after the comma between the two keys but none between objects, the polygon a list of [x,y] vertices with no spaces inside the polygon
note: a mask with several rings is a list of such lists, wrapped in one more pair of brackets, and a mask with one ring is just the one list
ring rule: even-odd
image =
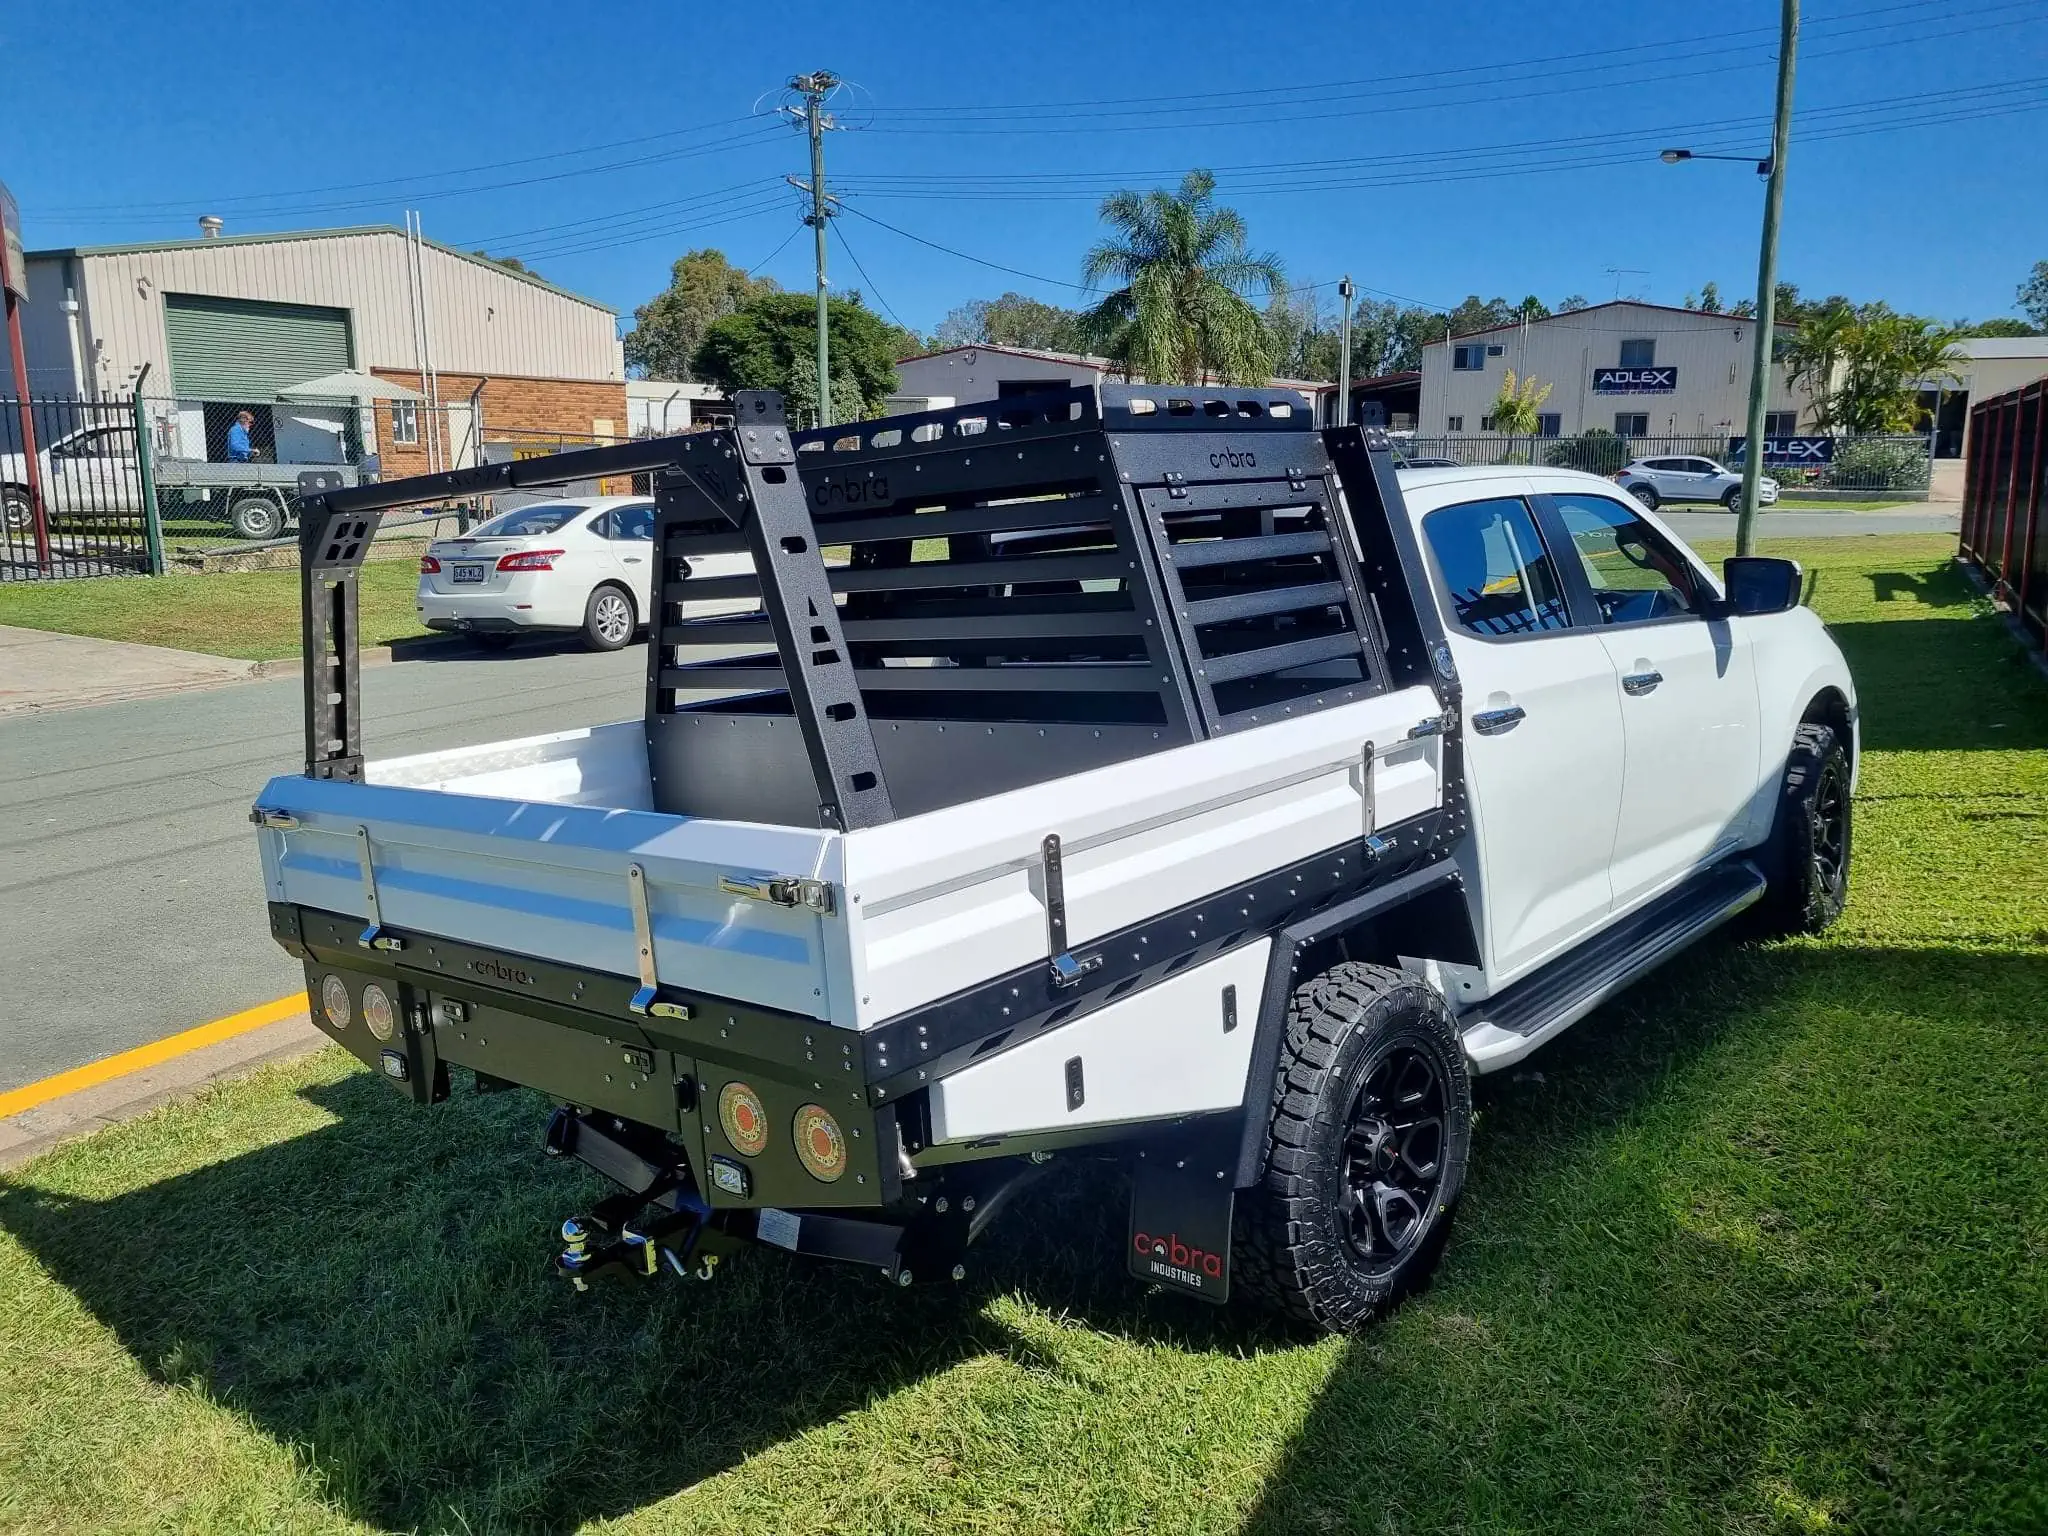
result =
[{"label": "large dark shadow on grass right of the ute's rear wheel", "polygon": [[2044,999],[2048,950],[1720,944],[1481,1079],[1436,1286],[1245,1530],[2028,1528]]}]

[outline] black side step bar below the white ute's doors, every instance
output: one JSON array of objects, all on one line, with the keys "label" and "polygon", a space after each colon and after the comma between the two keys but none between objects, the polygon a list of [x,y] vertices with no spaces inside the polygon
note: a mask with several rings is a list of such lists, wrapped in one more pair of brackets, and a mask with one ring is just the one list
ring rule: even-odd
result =
[{"label": "black side step bar below the white ute's doors", "polygon": [[1475,1004],[1460,1016],[1473,1071],[1516,1065],[1761,895],[1763,872],[1755,864],[1716,864],[1497,997]]}]

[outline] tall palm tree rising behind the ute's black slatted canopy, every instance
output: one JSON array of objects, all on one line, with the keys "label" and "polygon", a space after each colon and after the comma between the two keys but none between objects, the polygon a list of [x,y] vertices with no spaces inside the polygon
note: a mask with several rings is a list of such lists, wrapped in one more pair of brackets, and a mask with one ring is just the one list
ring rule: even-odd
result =
[{"label": "tall palm tree rising behind the ute's black slatted canopy", "polygon": [[1087,328],[1126,373],[1155,383],[1272,375],[1272,336],[1251,295],[1286,285],[1280,258],[1253,256],[1243,217],[1214,197],[1217,178],[1190,170],[1178,193],[1126,190],[1102,203],[1114,233],[1087,252],[1081,279],[1120,287],[1087,311]]}]

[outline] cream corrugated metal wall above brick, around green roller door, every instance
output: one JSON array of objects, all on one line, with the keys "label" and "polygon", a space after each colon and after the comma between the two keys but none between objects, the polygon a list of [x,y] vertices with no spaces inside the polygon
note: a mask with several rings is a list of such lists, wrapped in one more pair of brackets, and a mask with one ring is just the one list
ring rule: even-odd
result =
[{"label": "cream corrugated metal wall above brick, around green roller door", "polygon": [[[422,248],[434,367],[526,379],[623,379],[610,311],[512,272]],[[346,309],[358,369],[418,369],[406,236],[397,229],[262,242],[193,242],[82,258],[100,383],[135,369],[168,383],[164,295],[197,293]],[[33,352],[33,348],[31,348]]]}]

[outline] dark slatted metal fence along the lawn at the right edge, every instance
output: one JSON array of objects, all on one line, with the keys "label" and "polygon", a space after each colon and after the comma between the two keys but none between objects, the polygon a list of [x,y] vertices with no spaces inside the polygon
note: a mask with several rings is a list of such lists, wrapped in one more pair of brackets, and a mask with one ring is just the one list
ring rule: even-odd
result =
[{"label": "dark slatted metal fence along the lawn at the right edge", "polygon": [[2048,379],[1970,408],[1962,555],[2048,649]]}]

